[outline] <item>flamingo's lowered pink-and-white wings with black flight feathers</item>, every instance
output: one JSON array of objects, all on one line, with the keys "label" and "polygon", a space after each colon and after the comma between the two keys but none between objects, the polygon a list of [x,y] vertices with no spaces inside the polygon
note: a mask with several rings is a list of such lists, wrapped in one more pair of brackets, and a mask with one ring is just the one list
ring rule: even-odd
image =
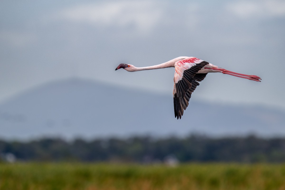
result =
[{"label": "flamingo's lowered pink-and-white wings with black flight feathers", "polygon": [[175,63],[173,102],[175,117],[180,118],[188,106],[192,92],[207,73],[197,73],[209,64],[195,57],[186,58]]}]

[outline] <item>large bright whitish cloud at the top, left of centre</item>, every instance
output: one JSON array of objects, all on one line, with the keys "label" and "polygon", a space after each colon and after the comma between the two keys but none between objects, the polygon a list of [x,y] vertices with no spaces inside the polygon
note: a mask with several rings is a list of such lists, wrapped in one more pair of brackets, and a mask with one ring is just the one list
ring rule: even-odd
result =
[{"label": "large bright whitish cloud at the top, left of centre", "polygon": [[161,6],[152,1],[120,1],[93,3],[70,7],[59,15],[72,22],[87,22],[103,26],[135,26],[144,32],[161,19]]}]

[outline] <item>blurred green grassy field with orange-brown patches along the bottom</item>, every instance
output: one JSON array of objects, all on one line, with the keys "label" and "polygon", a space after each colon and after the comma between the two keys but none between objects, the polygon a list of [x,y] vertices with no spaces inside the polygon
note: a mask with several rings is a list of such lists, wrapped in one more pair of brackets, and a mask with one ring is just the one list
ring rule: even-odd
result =
[{"label": "blurred green grassy field with orange-brown patches along the bottom", "polygon": [[0,189],[285,190],[285,164],[0,163]]}]

